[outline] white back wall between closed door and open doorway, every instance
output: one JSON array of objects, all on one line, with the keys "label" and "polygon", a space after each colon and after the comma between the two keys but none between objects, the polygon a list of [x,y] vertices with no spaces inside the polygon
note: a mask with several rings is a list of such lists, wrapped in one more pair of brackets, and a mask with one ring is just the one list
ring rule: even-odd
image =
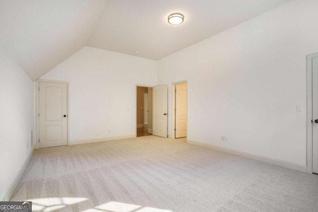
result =
[{"label": "white back wall between closed door and open doorway", "polygon": [[[41,79],[70,82],[70,140],[136,133],[136,84],[157,84],[157,62],[84,47]],[[108,132],[109,130],[109,132]]]}]

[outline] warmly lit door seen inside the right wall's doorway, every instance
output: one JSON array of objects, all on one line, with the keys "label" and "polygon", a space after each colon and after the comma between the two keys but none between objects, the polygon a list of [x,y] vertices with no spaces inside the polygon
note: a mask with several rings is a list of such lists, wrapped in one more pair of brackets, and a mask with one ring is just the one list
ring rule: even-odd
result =
[{"label": "warmly lit door seen inside the right wall's doorway", "polygon": [[175,138],[187,136],[187,85],[175,85]]}]

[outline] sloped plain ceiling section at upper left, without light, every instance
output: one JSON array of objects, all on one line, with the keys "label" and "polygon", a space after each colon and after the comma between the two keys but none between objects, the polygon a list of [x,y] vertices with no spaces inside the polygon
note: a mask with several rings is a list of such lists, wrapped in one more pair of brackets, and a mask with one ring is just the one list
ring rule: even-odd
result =
[{"label": "sloped plain ceiling section at upper left, without light", "polygon": [[0,45],[33,80],[88,42],[107,0],[0,0]]}]

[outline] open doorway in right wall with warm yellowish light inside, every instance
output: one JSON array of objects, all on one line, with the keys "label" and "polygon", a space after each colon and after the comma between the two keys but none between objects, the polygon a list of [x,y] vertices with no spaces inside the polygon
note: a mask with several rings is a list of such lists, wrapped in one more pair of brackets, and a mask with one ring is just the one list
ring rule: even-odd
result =
[{"label": "open doorway in right wall with warm yellowish light inside", "polygon": [[187,82],[172,84],[172,127],[174,138],[187,141]]}]

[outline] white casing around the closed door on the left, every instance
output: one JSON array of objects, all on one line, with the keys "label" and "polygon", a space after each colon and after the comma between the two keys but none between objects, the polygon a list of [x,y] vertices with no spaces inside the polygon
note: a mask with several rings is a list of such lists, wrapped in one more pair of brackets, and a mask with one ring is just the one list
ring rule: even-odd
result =
[{"label": "white casing around the closed door on the left", "polygon": [[36,148],[39,148],[40,145],[39,145],[39,138],[40,138],[40,135],[39,135],[39,127],[40,127],[40,123],[39,123],[39,86],[40,86],[40,82],[54,82],[54,83],[66,83],[67,84],[67,105],[68,105],[68,121],[67,121],[67,129],[68,129],[68,144],[69,145],[69,142],[70,142],[70,82],[69,81],[58,81],[58,80],[48,80],[48,79],[37,79],[36,80],[36,89],[35,89],[35,92],[36,92],[36,113],[35,113],[35,117],[36,117]]}]

